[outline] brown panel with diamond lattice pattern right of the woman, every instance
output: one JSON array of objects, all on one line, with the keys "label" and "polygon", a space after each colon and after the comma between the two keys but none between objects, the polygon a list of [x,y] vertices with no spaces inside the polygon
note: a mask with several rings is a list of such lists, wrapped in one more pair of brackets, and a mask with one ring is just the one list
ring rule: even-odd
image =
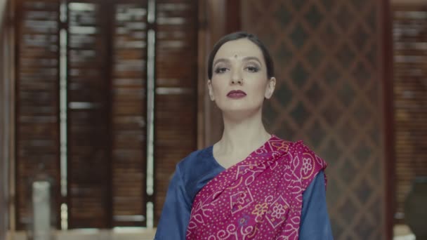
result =
[{"label": "brown panel with diamond lattice pattern right of the woman", "polygon": [[[384,227],[380,4],[360,0],[243,1],[242,25],[275,60],[267,127],[304,140],[328,163],[335,239],[382,239]],[[263,11],[259,11],[263,9]],[[256,14],[256,15],[255,15]],[[372,211],[376,209],[376,211]]]}]

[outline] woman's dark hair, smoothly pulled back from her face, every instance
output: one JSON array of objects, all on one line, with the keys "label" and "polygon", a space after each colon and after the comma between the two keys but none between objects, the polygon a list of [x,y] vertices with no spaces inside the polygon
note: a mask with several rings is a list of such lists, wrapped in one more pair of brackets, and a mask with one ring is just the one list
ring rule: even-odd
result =
[{"label": "woman's dark hair, smoothly pulled back from her face", "polygon": [[213,46],[212,51],[209,54],[209,59],[208,59],[208,78],[212,79],[213,58],[215,58],[215,55],[218,52],[219,48],[221,48],[221,46],[223,46],[223,44],[225,44],[228,41],[233,41],[233,40],[238,40],[238,39],[248,39],[249,41],[253,42],[256,46],[258,46],[258,48],[261,49],[261,52],[263,52],[263,55],[264,55],[265,65],[267,66],[268,79],[270,79],[272,76],[274,76],[275,75],[275,69],[274,69],[274,66],[272,63],[271,55],[270,55],[270,53],[268,53],[267,48],[261,42],[261,40],[258,39],[258,36],[255,36],[254,34],[249,34],[247,32],[233,32],[231,34],[227,34],[227,35],[223,36]]}]

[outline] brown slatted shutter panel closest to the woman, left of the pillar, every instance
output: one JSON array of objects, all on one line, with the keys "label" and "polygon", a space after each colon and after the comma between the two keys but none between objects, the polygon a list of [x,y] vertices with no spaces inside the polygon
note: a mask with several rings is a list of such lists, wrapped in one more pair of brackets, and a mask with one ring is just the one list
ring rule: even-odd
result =
[{"label": "brown slatted shutter panel closest to the woman, left of the pillar", "polygon": [[197,147],[197,2],[159,0],[156,9],[155,220],[158,220],[176,163]]}]

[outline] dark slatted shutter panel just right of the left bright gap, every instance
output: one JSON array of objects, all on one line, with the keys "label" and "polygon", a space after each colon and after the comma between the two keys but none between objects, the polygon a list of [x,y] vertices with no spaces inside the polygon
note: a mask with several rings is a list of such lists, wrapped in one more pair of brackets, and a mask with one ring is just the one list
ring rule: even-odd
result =
[{"label": "dark slatted shutter panel just right of the left bright gap", "polygon": [[107,38],[103,8],[68,4],[69,227],[110,227]]}]

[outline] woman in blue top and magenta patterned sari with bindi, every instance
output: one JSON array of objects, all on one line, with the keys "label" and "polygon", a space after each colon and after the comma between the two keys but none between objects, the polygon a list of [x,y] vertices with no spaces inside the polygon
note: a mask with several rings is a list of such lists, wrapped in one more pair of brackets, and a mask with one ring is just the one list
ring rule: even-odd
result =
[{"label": "woman in blue top and magenta patterned sari with bindi", "polygon": [[332,239],[326,163],[263,126],[263,101],[276,84],[265,46],[245,32],[224,36],[208,77],[223,135],[177,164],[155,239]]}]

